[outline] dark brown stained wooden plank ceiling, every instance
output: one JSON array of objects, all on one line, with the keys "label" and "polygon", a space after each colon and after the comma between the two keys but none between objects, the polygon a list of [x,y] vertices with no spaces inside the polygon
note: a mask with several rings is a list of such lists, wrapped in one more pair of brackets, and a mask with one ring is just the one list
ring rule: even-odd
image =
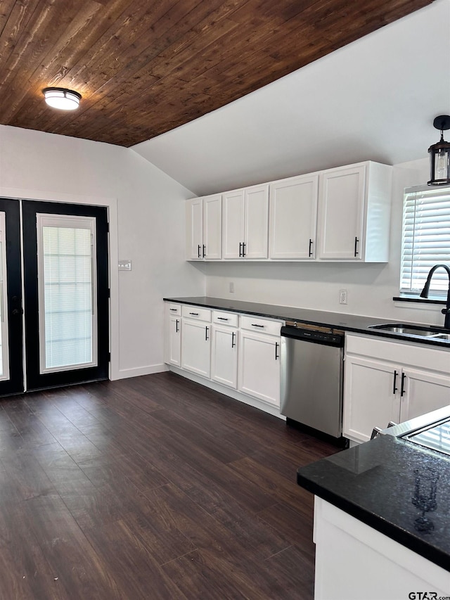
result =
[{"label": "dark brown stained wooden plank ceiling", "polygon": [[132,146],[432,1],[1,0],[0,123]]}]

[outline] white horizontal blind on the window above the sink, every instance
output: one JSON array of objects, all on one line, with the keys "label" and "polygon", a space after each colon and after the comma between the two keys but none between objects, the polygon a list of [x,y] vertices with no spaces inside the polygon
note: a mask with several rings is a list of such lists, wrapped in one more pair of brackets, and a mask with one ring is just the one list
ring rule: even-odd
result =
[{"label": "white horizontal blind on the window above the sink", "polygon": [[[450,266],[450,188],[406,190],[403,210],[400,293],[418,295],[431,267]],[[444,269],[432,276],[430,298],[446,297]]]}]

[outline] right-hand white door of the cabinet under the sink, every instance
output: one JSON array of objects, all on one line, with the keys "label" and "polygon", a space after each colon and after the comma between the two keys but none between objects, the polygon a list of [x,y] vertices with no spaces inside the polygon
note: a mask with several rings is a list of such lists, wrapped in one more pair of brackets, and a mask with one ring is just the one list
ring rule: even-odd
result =
[{"label": "right-hand white door of the cabinet under the sink", "polygon": [[[450,356],[450,355],[449,355]],[[400,422],[450,404],[450,376],[404,367]]]}]

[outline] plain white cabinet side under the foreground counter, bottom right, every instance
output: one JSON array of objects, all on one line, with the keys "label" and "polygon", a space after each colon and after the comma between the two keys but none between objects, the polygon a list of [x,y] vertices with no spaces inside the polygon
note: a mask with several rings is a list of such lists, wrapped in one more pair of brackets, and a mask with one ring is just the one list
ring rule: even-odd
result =
[{"label": "plain white cabinet side under the foreground counter, bottom right", "polygon": [[314,600],[449,596],[448,570],[319,497],[314,498],[314,542]]}]

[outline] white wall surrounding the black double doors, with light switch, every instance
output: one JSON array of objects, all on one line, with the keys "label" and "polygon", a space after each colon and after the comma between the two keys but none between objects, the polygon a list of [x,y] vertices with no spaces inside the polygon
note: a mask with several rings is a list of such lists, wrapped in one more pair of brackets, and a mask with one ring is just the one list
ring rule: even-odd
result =
[{"label": "white wall surrounding the black double doors, with light switch", "polygon": [[[165,369],[162,297],[205,293],[205,276],[184,261],[193,194],[128,148],[0,126],[0,196],[110,206],[113,378]],[[117,255],[131,272],[117,273]]]}]

